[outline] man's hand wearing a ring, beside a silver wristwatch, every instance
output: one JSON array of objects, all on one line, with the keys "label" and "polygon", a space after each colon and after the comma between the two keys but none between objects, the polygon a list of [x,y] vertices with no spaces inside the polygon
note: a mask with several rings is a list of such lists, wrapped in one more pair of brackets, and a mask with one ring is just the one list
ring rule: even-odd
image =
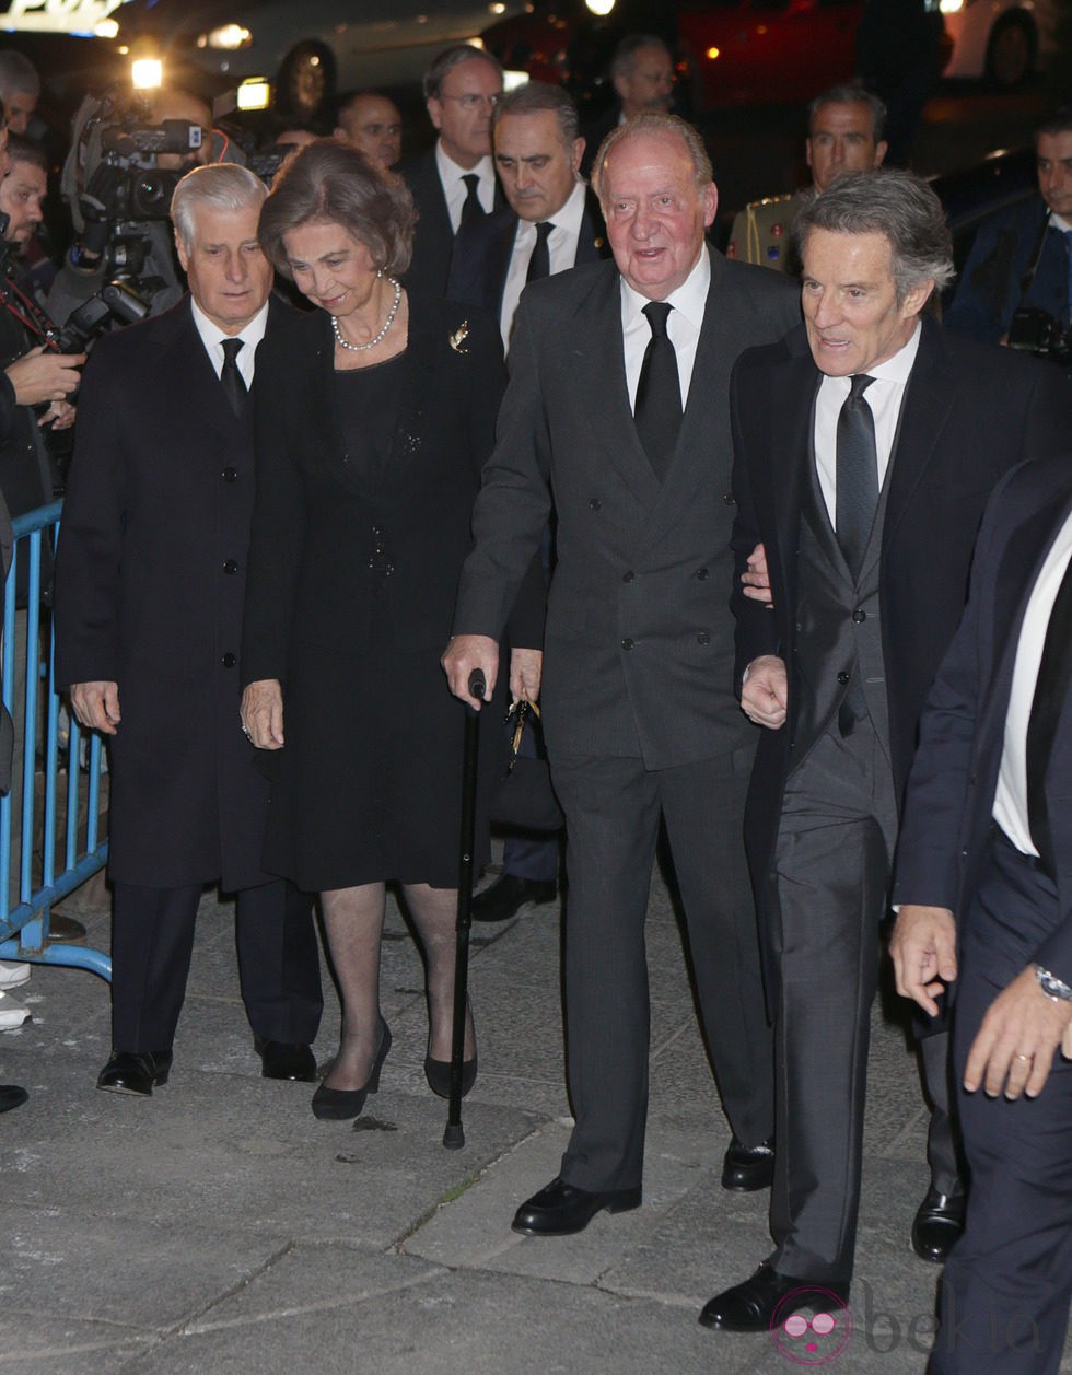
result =
[{"label": "man's hand wearing a ring, beside a silver wristwatch", "polygon": [[1050,1075],[1054,1052],[1072,1024],[1072,1002],[1047,997],[1028,965],[991,1002],[968,1052],[963,1086],[983,1085],[990,1097],[1035,1099]]}]

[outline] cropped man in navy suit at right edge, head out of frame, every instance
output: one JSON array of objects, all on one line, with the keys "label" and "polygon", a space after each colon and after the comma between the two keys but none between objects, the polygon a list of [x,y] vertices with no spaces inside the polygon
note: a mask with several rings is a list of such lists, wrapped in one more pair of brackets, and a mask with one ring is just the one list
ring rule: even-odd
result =
[{"label": "cropped man in navy suit at right edge, head out of frame", "polygon": [[[908,780],[891,940],[930,1015],[957,993],[972,1169],[929,1370],[1053,1372],[1072,1299],[1072,452],[991,499]],[[954,982],[955,980],[955,982]]]}]

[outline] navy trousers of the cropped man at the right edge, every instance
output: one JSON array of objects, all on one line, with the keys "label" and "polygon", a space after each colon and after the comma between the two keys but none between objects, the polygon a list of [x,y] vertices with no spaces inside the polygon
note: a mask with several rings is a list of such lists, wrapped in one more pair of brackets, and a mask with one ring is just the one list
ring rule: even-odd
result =
[{"label": "navy trousers of the cropped man at the right edge", "polygon": [[[1060,924],[1057,891],[995,839],[961,935],[954,1063],[994,998]],[[970,1169],[965,1233],[946,1262],[930,1375],[1057,1375],[1072,1302],[1072,1063],[1038,1099],[959,1090]]]}]

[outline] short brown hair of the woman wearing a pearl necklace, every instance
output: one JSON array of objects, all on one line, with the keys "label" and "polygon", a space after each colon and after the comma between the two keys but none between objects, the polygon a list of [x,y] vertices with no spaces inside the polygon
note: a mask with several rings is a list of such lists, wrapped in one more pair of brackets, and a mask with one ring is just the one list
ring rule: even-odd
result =
[{"label": "short brown hair of the woman wearing a pearl necklace", "polygon": [[338,224],[388,276],[410,265],[416,212],[401,177],[339,139],[317,139],[287,160],[261,210],[258,236],[290,276],[283,235],[301,224]]}]

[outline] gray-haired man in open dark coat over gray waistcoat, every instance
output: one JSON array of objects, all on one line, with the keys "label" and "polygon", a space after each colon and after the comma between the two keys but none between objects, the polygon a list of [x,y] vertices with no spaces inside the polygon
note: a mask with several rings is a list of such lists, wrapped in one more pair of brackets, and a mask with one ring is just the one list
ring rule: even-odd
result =
[{"label": "gray-haired man in open dark coat over gray waistcoat", "polygon": [[[767,727],[745,839],[778,1150],[775,1251],[701,1317],[730,1331],[767,1331],[816,1286],[826,1302],[848,1292],[878,927],[919,714],[990,491],[1069,432],[1056,368],[921,318],[952,272],[925,183],[848,173],[797,224],[805,327],[745,355],[733,386],[738,573],[763,540],[774,601],[738,591],[735,609],[742,705]],[[947,1097],[943,1040],[925,1064]],[[947,1129],[932,1132],[930,1156],[939,1225],[955,1235]]]}]

